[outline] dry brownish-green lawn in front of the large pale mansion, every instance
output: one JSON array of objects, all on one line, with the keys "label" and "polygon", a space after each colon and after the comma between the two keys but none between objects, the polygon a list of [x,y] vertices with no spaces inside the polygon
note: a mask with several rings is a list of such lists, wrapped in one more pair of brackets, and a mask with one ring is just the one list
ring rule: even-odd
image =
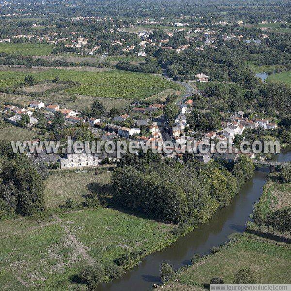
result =
[{"label": "dry brownish-green lawn in front of the large pale mansion", "polygon": [[[88,173],[58,173],[53,172],[45,180],[45,203],[48,208],[56,208],[65,204],[67,198],[74,201],[84,201],[86,194],[110,194],[108,183],[111,173],[103,170],[95,175],[96,170]],[[99,171],[99,170],[98,170]]]}]

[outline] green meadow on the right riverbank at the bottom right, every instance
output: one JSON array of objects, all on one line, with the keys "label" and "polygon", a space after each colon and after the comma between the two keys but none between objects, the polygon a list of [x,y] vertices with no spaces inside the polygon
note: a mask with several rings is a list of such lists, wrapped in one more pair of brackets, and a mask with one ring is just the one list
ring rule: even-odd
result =
[{"label": "green meadow on the right riverbank at the bottom right", "polygon": [[213,277],[220,277],[224,283],[233,284],[234,274],[244,266],[253,270],[258,283],[290,284],[291,247],[287,244],[276,245],[268,240],[259,241],[257,238],[243,236],[238,242],[221,248],[202,262],[191,266],[178,275],[181,284],[207,288]]}]

